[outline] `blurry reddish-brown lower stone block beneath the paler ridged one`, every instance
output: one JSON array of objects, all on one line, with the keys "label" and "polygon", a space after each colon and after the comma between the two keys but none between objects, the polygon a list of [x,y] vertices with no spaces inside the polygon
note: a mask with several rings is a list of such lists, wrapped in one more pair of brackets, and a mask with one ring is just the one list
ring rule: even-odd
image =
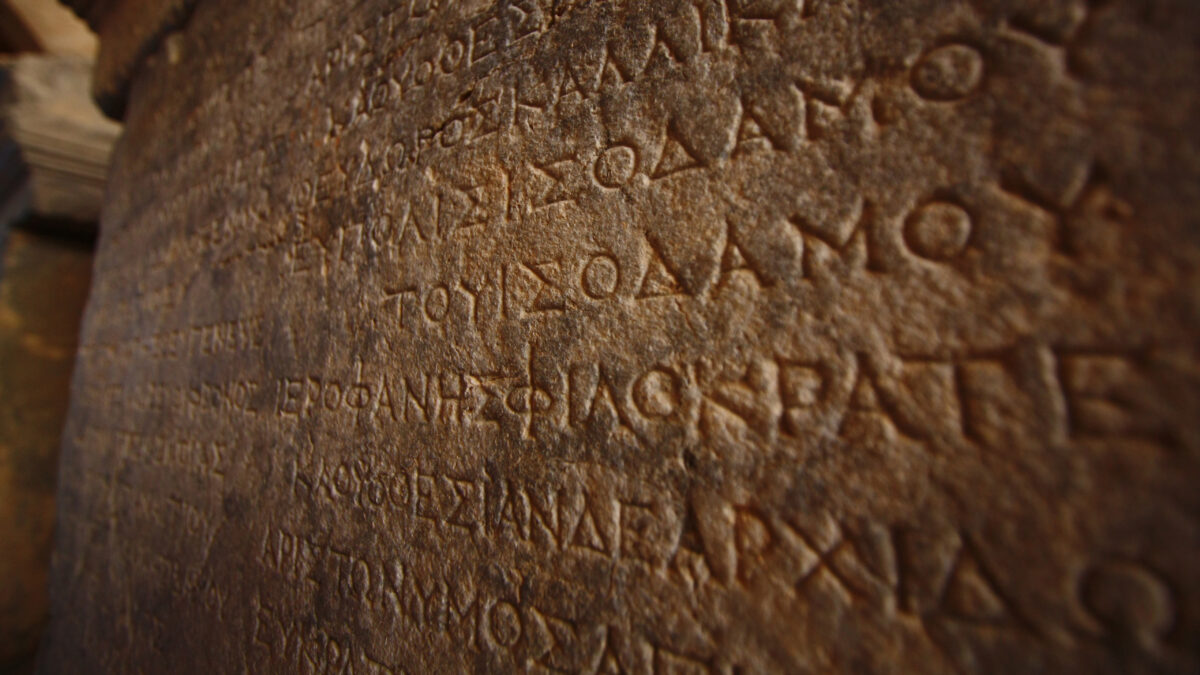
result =
[{"label": "blurry reddish-brown lower stone block beneath the paler ridged one", "polygon": [[34,664],[67,392],[91,249],[16,231],[0,241],[0,673]]}]

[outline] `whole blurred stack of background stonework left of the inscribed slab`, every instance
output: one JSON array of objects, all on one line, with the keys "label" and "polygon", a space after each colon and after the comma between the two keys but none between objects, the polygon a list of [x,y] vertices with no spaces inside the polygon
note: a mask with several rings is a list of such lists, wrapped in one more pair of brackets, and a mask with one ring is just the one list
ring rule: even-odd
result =
[{"label": "whole blurred stack of background stonework left of the inscribed slab", "polygon": [[0,674],[31,673],[104,174],[96,37],[55,0],[0,0]]}]

